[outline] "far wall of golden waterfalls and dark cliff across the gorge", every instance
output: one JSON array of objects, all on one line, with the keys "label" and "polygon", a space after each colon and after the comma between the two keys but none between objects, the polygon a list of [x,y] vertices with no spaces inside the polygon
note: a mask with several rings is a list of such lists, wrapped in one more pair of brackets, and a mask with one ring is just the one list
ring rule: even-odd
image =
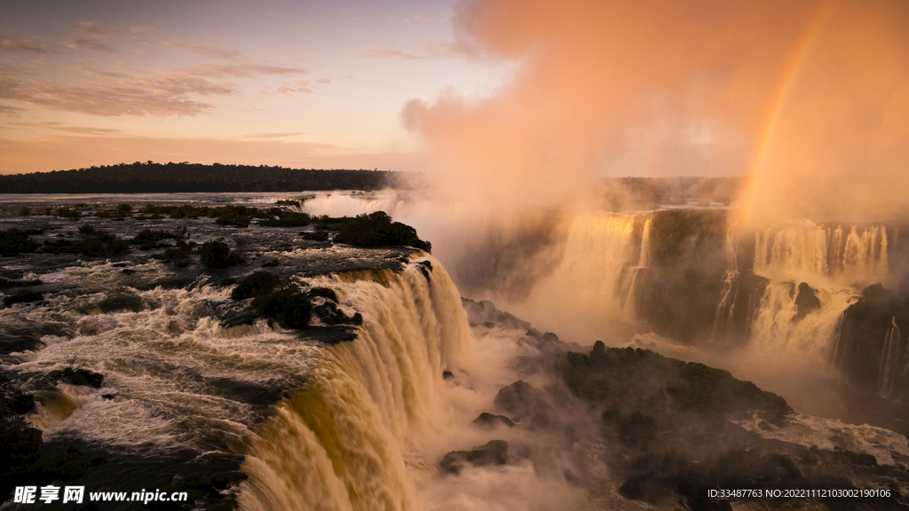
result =
[{"label": "far wall of golden waterfalls and dark cliff across the gorge", "polygon": [[[835,358],[844,311],[863,288],[889,282],[897,236],[885,225],[807,220],[743,231],[715,210],[581,215],[567,232],[524,315],[555,316],[549,325],[581,343],[621,338],[609,324],[624,323],[818,366]],[[880,342],[883,353],[868,356],[880,359],[878,390],[891,396],[904,339]]]}]

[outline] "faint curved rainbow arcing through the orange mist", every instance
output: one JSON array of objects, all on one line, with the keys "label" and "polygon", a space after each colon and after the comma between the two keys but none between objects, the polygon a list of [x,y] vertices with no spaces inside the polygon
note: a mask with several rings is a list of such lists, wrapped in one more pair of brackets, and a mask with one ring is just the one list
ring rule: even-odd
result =
[{"label": "faint curved rainbow arcing through the orange mist", "polygon": [[820,35],[824,32],[824,26],[827,25],[836,4],[837,1],[832,0],[820,5],[817,13],[794,45],[793,51],[790,53],[780,73],[779,82],[774,89],[767,113],[764,115],[764,120],[758,130],[757,144],[754,145],[747,173],[745,174],[745,183],[741,194],[742,200],[736,219],[736,224],[740,227],[747,227],[754,222],[758,192],[762,187],[761,185],[764,184],[763,179],[767,177],[767,160],[780,119],[783,116],[789,96],[792,95],[794,85],[802,73],[805,62],[814,52],[814,46],[817,45]]}]

